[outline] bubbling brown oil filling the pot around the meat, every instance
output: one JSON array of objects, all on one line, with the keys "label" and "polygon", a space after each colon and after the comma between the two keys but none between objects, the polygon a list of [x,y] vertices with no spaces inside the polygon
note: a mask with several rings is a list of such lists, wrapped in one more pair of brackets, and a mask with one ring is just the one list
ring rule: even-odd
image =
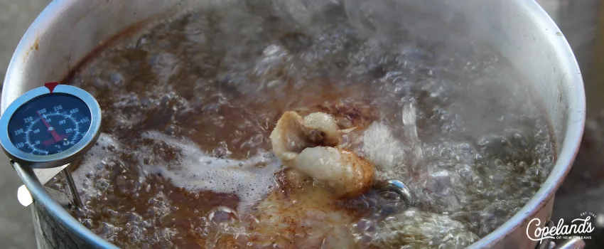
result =
[{"label": "bubbling brown oil filling the pot around the meat", "polygon": [[[85,207],[71,212],[109,242],[463,248],[522,208],[553,165],[544,115],[488,46],[384,41],[337,4],[213,3],[69,79],[104,117],[75,171]],[[418,203],[374,191],[335,201],[282,181],[269,134],[287,110],[357,127],[344,147],[386,165],[379,177],[403,181]]]}]

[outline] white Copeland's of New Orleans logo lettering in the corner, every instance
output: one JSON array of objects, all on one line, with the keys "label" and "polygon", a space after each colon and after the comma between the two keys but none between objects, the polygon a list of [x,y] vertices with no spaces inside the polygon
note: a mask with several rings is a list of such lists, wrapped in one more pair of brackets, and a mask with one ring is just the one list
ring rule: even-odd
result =
[{"label": "white Copeland's of New Orleans logo lettering in the corner", "polygon": [[[539,218],[534,218],[529,222],[529,226],[527,226],[527,236],[529,239],[534,241],[539,241],[541,243],[542,240],[547,238],[549,239],[570,239],[570,238],[581,238],[581,239],[590,239],[591,236],[580,236],[581,234],[587,234],[593,232],[595,229],[592,226],[593,220],[595,220],[595,214],[590,212],[581,213],[582,218],[576,218],[569,224],[564,224],[564,219],[561,218],[558,221],[557,226],[545,226],[541,228],[541,221]],[[530,228],[536,227],[534,234],[530,234]],[[573,234],[573,236],[570,236]]]}]

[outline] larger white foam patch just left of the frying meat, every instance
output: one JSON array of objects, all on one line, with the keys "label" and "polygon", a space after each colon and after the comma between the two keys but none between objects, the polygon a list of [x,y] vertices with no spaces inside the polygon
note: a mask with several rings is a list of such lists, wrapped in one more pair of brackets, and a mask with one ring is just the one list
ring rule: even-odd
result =
[{"label": "larger white foam patch just left of the frying meat", "polygon": [[149,173],[160,173],[174,185],[186,189],[236,194],[240,200],[239,213],[245,213],[271,191],[274,173],[281,166],[279,159],[268,153],[245,160],[219,159],[201,151],[189,140],[173,139],[159,132],[146,132],[143,137],[176,147],[181,154],[176,166],[162,162],[146,165]]}]

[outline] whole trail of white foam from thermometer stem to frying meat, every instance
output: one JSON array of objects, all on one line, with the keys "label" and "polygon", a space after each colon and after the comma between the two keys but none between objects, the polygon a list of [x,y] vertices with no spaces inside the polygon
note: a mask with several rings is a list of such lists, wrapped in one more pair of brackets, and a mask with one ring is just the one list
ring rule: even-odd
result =
[{"label": "whole trail of white foam from thermometer stem to frying meat", "polygon": [[[269,153],[261,153],[245,160],[219,159],[203,152],[194,142],[186,139],[174,139],[160,132],[145,132],[144,139],[151,139],[151,146],[136,147],[125,151],[122,144],[109,134],[102,133],[85,160],[75,171],[74,180],[87,199],[102,194],[100,185],[109,186],[102,181],[109,174],[105,165],[119,161],[120,154],[129,153],[139,157],[139,181],[144,182],[146,174],[162,174],[175,186],[194,191],[212,191],[220,194],[235,194],[239,197],[239,213],[244,213],[271,191],[274,186],[274,173],[280,169],[279,159]],[[152,146],[168,144],[178,151],[175,161],[164,161],[153,152]],[[111,147],[112,149],[108,149]],[[153,160],[145,160],[152,158]],[[100,176],[100,179],[97,179]],[[100,185],[99,185],[100,184]]]}]

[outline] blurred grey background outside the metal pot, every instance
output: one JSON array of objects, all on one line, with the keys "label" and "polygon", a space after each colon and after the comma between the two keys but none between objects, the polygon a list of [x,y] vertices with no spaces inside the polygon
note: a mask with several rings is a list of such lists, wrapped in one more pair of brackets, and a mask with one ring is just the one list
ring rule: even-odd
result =
[{"label": "blurred grey background outside the metal pot", "polygon": [[[604,4],[598,0],[536,0],[558,23],[581,66],[587,92],[588,122],[575,165],[556,194],[554,216],[565,221],[582,212],[603,218],[587,248],[604,248]],[[50,0],[0,0],[0,81],[18,41]],[[600,44],[600,46],[597,46]],[[21,206],[21,185],[8,159],[0,155],[1,248],[36,248],[31,211]],[[599,219],[598,219],[599,220]],[[583,234],[583,236],[588,236]]]}]

